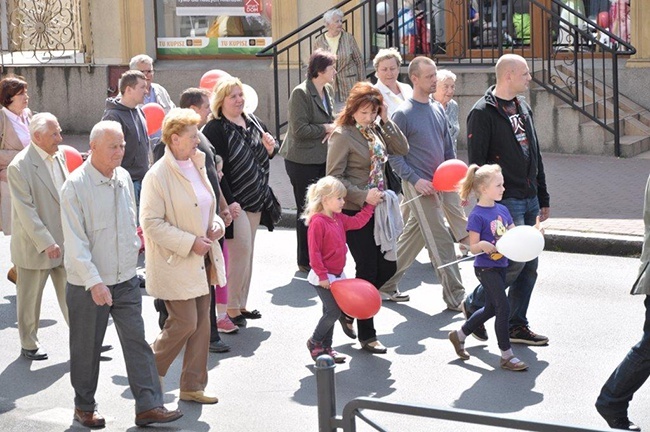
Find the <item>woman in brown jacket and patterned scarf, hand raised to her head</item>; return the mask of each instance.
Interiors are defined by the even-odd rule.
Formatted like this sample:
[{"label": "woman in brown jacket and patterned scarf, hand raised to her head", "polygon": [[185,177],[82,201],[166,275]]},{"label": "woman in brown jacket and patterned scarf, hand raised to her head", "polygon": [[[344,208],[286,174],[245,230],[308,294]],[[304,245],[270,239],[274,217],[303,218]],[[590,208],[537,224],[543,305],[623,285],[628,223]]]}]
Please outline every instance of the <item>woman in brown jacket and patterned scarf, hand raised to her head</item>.
[{"label": "woman in brown jacket and patterned scarf, hand raised to her head", "polygon": [[[372,84],[357,83],[336,120],[329,139],[327,175],[337,177],[347,189],[343,213],[354,216],[367,204],[377,205],[387,190],[386,161],[389,154],[405,155],[408,142],[397,125],[388,118],[381,93]],[[379,191],[380,193],[376,193]],[[347,232],[347,242],[356,263],[356,277],[380,288],[396,271],[395,261],[386,259],[375,244],[374,217],[356,231]],[[353,319],[342,316],[341,324],[349,337],[355,337]],[[371,353],[386,352],[377,340],[372,318],[358,320],[359,342]]]}]

